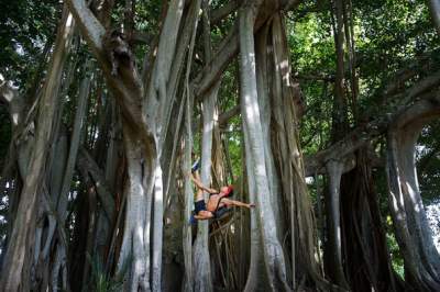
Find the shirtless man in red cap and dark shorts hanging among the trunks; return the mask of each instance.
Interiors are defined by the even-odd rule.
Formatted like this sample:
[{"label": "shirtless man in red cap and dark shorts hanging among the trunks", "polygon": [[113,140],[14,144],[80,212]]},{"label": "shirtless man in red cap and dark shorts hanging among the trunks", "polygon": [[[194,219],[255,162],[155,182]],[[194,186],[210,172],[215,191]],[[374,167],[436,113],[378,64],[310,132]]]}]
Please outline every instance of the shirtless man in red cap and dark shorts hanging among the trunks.
[{"label": "shirtless man in red cap and dark shorts hanging among the trunks", "polygon": [[[255,204],[253,203],[246,204],[240,201],[228,199],[227,196],[230,196],[233,193],[232,186],[221,187],[220,191],[207,188],[201,183],[197,171],[191,175],[191,180],[198,189],[196,202],[194,203],[196,213],[196,215],[194,215],[194,218],[196,220],[209,220],[219,217],[219,214],[222,213],[219,211],[222,211],[222,209],[226,209],[228,206],[244,206],[249,209],[255,206]],[[204,191],[209,193],[208,203],[205,203]],[[191,223],[195,223],[193,217]]]}]

